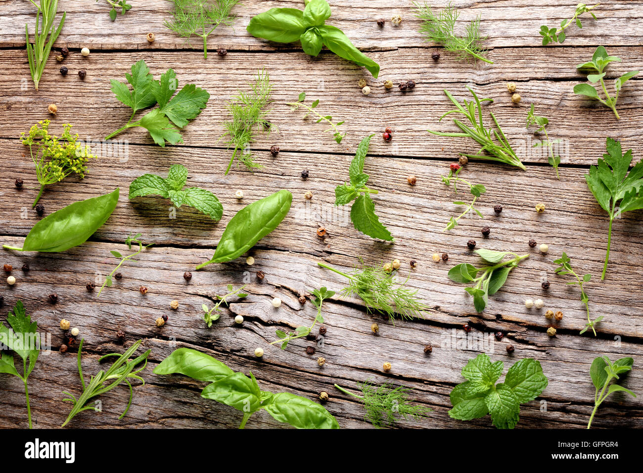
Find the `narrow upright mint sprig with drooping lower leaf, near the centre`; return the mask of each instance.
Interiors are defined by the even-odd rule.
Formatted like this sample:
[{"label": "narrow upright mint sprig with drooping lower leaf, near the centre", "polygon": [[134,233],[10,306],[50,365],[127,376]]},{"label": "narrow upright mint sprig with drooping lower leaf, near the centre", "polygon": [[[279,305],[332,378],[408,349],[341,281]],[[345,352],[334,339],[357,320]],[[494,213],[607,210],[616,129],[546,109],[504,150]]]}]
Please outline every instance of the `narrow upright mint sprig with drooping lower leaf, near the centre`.
[{"label": "narrow upright mint sprig with drooping lower leaf, near the centre", "polygon": [[350,219],[354,227],[365,235],[386,241],[393,241],[393,236],[379,221],[375,214],[375,203],[369,194],[377,194],[377,190],[366,187],[368,174],[364,174],[364,161],[368,153],[368,145],[372,134],[359,143],[355,157],[349,166],[349,183],[339,185],[335,189],[335,205],[347,205],[355,201],[350,207]]}]

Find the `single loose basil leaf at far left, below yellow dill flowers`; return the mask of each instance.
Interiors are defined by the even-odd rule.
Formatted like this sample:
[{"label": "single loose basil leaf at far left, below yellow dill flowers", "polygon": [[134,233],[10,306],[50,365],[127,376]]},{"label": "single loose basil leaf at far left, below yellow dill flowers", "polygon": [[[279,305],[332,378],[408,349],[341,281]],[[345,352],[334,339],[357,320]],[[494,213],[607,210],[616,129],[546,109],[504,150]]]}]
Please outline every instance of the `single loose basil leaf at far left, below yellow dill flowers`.
[{"label": "single loose basil leaf at far left, below yellow dill flowers", "polygon": [[118,188],[100,197],[75,202],[36,223],[20,251],[63,252],[82,245],[111,216]]}]

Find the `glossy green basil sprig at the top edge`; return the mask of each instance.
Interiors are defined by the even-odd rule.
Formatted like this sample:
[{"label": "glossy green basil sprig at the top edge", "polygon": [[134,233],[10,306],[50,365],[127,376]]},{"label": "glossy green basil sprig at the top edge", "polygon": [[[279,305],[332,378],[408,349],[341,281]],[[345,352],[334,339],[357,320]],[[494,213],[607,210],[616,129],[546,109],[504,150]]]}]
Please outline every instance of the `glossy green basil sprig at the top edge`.
[{"label": "glossy green basil sprig at the top edge", "polygon": [[325,24],[331,17],[331,6],[326,0],[310,0],[305,8],[271,8],[253,17],[248,33],[257,38],[275,42],[302,43],[303,52],[316,56],[325,44],[343,59],[364,66],[377,79],[379,64],[356,48],[340,28]]}]

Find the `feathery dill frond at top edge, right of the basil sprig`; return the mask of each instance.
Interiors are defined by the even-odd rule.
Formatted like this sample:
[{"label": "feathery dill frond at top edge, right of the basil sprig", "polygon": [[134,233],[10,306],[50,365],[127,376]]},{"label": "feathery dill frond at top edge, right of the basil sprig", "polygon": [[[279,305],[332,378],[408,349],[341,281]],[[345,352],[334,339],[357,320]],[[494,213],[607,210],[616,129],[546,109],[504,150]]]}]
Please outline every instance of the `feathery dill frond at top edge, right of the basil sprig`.
[{"label": "feathery dill frond at top edge, right of the basil sprig", "polygon": [[455,22],[460,12],[450,3],[437,15],[433,14],[433,10],[426,2],[424,5],[414,2],[413,6],[415,6],[413,9],[416,12],[415,17],[422,20],[420,32],[426,37],[426,41],[442,44],[447,51],[457,53],[458,59],[471,56],[493,64],[491,60],[482,57],[487,52],[482,46],[482,41],[487,37],[480,36],[480,16],[467,24],[464,36],[458,36],[455,34]]}]

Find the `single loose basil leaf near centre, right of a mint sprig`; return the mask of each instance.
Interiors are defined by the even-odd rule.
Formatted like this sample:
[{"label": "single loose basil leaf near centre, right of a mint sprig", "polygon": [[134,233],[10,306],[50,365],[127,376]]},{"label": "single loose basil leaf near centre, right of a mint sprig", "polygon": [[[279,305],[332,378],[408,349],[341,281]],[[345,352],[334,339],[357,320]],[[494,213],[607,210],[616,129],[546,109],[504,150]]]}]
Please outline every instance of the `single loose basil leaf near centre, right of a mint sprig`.
[{"label": "single loose basil leaf near centre, right of a mint sprig", "polygon": [[257,241],[275,230],[290,210],[291,203],[293,194],[279,190],[239,210],[226,226],[212,259],[199,264],[197,269],[210,263],[232,261],[247,252]]}]

